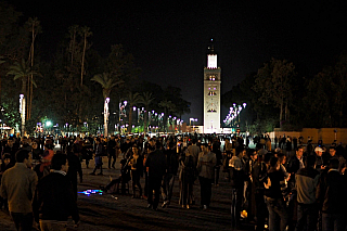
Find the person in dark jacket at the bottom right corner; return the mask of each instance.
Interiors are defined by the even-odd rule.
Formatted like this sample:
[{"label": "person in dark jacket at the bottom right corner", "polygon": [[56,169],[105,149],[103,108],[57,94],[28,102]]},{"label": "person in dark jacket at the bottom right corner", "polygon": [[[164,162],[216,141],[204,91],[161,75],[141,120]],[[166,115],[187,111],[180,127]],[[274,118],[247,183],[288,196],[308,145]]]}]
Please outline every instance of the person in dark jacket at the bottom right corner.
[{"label": "person in dark jacket at the bottom right corner", "polygon": [[338,171],[339,162],[331,158],[329,171],[317,188],[317,201],[322,211],[323,231],[344,231],[346,227],[347,182]]}]

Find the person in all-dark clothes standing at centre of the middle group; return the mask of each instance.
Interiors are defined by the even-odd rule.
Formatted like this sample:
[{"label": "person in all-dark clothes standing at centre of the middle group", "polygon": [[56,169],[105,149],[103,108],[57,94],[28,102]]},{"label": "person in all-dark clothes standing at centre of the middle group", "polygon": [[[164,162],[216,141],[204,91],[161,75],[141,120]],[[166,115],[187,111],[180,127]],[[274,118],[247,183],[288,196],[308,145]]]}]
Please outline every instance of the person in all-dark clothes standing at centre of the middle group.
[{"label": "person in all-dark clothes standing at centre of the middle group", "polygon": [[[156,150],[149,154],[145,161],[145,167],[149,172],[149,197],[147,202],[149,208],[153,208],[157,210],[157,206],[159,203],[159,194],[160,194],[160,185],[163,176],[166,172],[166,156],[163,153],[163,146],[160,142],[155,143]],[[153,201],[153,190],[155,192],[154,201]]]}]

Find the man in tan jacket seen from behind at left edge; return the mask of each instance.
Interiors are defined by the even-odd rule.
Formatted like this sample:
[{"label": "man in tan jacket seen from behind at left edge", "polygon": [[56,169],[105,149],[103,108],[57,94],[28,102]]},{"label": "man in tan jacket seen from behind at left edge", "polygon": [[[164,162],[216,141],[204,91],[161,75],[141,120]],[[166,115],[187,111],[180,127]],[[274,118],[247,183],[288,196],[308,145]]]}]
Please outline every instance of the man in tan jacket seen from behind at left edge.
[{"label": "man in tan jacket seen from behind at left edge", "polygon": [[16,230],[31,230],[33,207],[31,201],[38,177],[31,167],[31,154],[26,150],[15,153],[16,164],[3,172],[0,187],[0,196],[8,200],[9,211]]}]

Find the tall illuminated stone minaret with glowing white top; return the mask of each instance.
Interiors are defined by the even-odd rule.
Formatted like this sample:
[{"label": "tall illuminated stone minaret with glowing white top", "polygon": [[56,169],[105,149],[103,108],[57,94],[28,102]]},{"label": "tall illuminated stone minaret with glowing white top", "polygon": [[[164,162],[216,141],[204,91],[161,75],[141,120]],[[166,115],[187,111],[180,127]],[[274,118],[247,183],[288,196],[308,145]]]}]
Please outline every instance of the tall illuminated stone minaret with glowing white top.
[{"label": "tall illuminated stone minaret with glowing white top", "polygon": [[220,133],[221,69],[217,66],[214,44],[208,49],[207,67],[204,67],[204,133]]}]

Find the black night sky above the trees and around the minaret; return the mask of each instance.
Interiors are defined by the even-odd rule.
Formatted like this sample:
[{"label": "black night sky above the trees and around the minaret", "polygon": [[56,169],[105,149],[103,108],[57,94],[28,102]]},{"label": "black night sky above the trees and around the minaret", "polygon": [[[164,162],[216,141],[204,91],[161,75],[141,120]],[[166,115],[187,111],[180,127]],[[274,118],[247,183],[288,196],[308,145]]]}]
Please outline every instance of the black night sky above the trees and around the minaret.
[{"label": "black night sky above the trees and around the minaret", "polygon": [[[182,89],[189,117],[203,120],[203,70],[214,38],[222,92],[271,57],[314,75],[347,49],[347,1],[20,1],[23,21],[37,16],[37,42],[54,52],[74,24],[88,26],[103,56],[123,43],[141,79]],[[149,3],[147,3],[149,2]],[[222,113],[222,118],[227,112]]]}]

